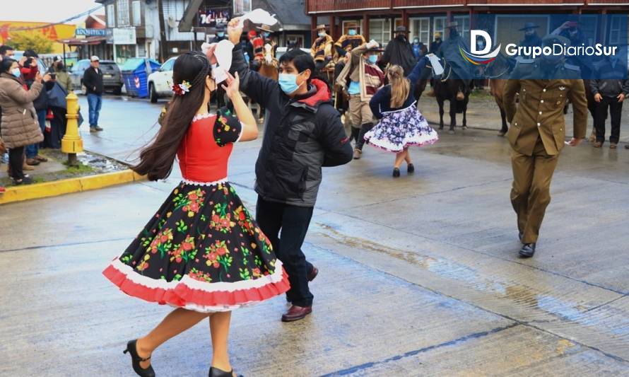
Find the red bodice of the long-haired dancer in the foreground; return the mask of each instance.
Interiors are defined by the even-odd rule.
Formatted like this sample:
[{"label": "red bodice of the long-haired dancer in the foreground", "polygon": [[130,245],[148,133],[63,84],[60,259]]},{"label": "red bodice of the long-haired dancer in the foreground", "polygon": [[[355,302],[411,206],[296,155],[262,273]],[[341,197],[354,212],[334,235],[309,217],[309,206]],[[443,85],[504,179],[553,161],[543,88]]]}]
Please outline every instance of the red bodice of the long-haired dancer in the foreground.
[{"label": "red bodice of the long-haired dancer in the foreground", "polygon": [[[233,143],[219,146],[215,134],[217,115],[197,115],[182,141],[177,158],[184,180],[216,182],[227,178]],[[223,131],[224,132],[224,131]]]}]

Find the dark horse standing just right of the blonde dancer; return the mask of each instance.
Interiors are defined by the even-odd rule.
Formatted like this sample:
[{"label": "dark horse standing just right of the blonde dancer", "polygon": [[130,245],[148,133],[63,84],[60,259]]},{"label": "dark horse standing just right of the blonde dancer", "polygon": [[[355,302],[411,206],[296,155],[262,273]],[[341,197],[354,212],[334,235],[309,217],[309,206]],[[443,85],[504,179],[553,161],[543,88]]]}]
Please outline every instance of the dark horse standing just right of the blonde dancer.
[{"label": "dark horse standing just right of the blonde dancer", "polygon": [[[466,88],[463,100],[457,100],[459,88],[464,87],[462,79],[451,79],[454,71],[452,66],[444,59],[444,71],[442,79],[435,79],[435,98],[439,105],[439,129],[443,129],[443,105],[445,101],[450,103],[450,128],[448,133],[454,134],[454,127],[457,126],[457,112],[463,113],[463,129],[467,128],[467,103],[469,103],[469,93],[471,86]],[[472,84],[473,85],[473,84]]]}]

